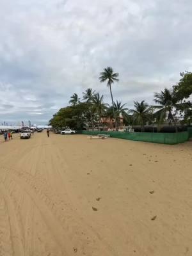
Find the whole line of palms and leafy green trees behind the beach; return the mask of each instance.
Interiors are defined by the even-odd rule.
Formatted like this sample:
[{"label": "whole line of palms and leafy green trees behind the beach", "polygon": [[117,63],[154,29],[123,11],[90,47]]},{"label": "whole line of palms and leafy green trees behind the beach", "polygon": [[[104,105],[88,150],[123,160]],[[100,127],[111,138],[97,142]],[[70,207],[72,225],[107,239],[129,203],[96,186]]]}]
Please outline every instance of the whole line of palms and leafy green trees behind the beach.
[{"label": "whole line of palms and leafy green trees behind the beach", "polygon": [[151,106],[142,100],[134,101],[134,108],[128,109],[120,100],[114,100],[112,85],[118,82],[119,74],[107,67],[100,72],[100,83],[106,83],[111,96],[111,104],[104,102],[104,96],[88,88],[82,97],[74,93],[69,100],[70,106],[61,108],[50,120],[54,128],[70,127],[74,129],[94,129],[104,127],[105,120],[111,120],[113,129],[118,130],[120,118],[124,125],[140,125],[144,131],[145,124],[192,124],[192,73],[180,73],[179,83],[171,88],[164,88],[154,93],[154,104]]}]

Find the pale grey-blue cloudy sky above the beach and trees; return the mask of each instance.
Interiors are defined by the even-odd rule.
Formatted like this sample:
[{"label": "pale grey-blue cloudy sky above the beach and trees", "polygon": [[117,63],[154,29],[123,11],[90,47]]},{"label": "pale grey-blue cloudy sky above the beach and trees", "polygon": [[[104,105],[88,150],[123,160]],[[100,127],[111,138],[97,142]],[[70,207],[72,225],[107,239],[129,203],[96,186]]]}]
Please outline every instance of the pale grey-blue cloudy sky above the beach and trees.
[{"label": "pale grey-blue cloudy sky above the beach and trees", "polygon": [[191,0],[0,0],[0,124],[47,124],[99,72],[120,74],[115,99],[132,108],[192,70]]}]

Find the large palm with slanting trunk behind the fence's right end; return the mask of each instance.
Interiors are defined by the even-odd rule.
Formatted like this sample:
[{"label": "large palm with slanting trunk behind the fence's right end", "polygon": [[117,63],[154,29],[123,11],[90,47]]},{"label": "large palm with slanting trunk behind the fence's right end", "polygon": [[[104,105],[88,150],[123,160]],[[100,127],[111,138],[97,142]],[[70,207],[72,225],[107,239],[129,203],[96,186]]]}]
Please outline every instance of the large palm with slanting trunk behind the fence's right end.
[{"label": "large palm with slanting trunk behind the fence's right end", "polygon": [[177,103],[175,92],[172,89],[164,88],[164,91],[161,91],[161,93],[154,93],[154,97],[154,102],[159,104],[159,106],[154,106],[154,108],[159,109],[156,113],[159,113],[160,116],[165,116],[168,113],[167,120],[173,122],[177,132],[177,124],[172,111],[173,108],[178,108],[181,104]]}]

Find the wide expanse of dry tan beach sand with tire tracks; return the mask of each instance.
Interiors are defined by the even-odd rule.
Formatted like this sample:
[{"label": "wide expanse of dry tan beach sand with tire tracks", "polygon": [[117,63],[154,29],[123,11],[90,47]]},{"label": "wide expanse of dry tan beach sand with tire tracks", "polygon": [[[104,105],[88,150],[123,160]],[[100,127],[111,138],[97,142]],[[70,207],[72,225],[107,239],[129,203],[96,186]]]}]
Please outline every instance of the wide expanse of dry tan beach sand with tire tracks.
[{"label": "wide expanse of dry tan beach sand with tire tracks", "polygon": [[192,255],[192,142],[43,132],[0,152],[1,256]]}]

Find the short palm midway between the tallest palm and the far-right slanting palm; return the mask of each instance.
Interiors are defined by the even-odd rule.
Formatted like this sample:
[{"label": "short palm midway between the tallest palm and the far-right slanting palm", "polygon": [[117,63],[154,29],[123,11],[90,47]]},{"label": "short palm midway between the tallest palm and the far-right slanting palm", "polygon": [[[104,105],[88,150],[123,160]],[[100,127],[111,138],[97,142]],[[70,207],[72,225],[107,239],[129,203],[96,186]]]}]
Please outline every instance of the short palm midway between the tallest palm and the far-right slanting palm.
[{"label": "short palm midway between the tallest palm and the far-right slanting palm", "polygon": [[129,112],[133,114],[134,121],[141,125],[141,131],[143,131],[150,113],[150,106],[145,103],[145,100],[141,102],[134,101],[134,109],[130,109]]}]

